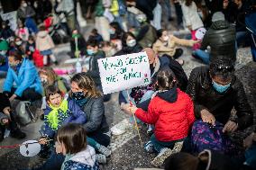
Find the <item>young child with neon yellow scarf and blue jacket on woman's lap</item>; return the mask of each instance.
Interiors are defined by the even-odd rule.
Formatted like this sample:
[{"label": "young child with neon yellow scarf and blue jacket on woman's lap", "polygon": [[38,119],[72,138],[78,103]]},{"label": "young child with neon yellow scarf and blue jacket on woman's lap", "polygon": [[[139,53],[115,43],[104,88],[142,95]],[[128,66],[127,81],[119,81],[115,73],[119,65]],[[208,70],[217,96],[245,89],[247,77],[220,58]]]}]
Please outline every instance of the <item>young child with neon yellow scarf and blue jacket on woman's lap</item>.
[{"label": "young child with neon yellow scarf and blue jacket on woman's lap", "polygon": [[[62,125],[74,122],[84,124],[87,121],[86,114],[73,100],[63,99],[61,92],[55,85],[49,85],[46,90],[47,106],[44,110],[44,128],[41,130],[41,144],[46,144],[48,139],[53,139]],[[104,155],[97,155],[99,162],[105,163],[105,157],[108,157],[111,152],[108,148],[98,144],[94,139],[87,139],[88,143]],[[105,156],[105,157],[104,157]]]}]

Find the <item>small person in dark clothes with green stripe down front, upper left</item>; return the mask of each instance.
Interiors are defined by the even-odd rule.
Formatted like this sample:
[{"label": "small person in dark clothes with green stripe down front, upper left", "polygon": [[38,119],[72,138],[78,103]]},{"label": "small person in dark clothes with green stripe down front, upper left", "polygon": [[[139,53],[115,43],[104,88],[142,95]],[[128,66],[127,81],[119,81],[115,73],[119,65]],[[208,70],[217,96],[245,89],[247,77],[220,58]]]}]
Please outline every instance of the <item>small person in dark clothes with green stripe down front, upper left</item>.
[{"label": "small person in dark clothes with green stripe down front, upper left", "polygon": [[[78,39],[78,44],[76,44],[76,39]],[[80,55],[86,55],[86,47],[87,42],[84,39],[83,35],[78,30],[73,30],[72,38],[70,40],[71,58],[78,58],[80,57]]]}]

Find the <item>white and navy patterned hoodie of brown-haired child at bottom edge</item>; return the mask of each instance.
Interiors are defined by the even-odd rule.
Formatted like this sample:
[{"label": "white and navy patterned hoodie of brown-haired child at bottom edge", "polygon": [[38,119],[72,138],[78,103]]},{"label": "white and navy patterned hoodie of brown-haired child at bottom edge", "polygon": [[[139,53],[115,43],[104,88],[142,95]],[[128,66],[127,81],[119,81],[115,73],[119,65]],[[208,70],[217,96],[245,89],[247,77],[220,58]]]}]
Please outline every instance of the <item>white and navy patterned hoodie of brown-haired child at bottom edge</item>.
[{"label": "white and navy patterned hoodie of brown-haired child at bottom edge", "polygon": [[61,166],[61,170],[98,170],[99,166],[96,162],[96,151],[91,146],[78,152],[75,155],[68,155]]}]

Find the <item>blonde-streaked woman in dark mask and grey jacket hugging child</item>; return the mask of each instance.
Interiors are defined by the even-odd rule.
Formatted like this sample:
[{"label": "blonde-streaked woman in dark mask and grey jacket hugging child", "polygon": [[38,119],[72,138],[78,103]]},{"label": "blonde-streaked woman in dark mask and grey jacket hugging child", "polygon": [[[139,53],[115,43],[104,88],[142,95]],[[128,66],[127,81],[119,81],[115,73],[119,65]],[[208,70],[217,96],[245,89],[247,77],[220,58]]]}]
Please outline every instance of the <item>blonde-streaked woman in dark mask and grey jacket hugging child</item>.
[{"label": "blonde-streaked woman in dark mask and grey jacket hugging child", "polygon": [[96,89],[93,79],[87,73],[78,73],[70,82],[70,98],[74,99],[87,114],[87,123],[84,124],[87,136],[107,147],[110,143],[110,133],[105,120],[102,94]]}]

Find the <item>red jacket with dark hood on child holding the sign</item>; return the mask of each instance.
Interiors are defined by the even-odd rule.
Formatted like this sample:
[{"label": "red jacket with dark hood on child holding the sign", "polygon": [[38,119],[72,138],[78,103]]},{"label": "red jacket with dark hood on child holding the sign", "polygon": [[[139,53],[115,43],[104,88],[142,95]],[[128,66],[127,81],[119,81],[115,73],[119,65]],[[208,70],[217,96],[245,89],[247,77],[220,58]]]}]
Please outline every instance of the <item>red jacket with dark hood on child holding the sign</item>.
[{"label": "red jacket with dark hood on child holding the sign", "polygon": [[154,134],[160,141],[186,138],[195,121],[192,100],[178,88],[158,93],[151,100],[148,112],[138,109],[135,115],[143,122],[155,125]]}]

